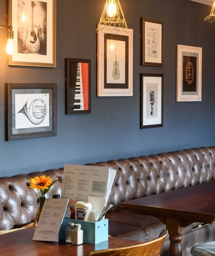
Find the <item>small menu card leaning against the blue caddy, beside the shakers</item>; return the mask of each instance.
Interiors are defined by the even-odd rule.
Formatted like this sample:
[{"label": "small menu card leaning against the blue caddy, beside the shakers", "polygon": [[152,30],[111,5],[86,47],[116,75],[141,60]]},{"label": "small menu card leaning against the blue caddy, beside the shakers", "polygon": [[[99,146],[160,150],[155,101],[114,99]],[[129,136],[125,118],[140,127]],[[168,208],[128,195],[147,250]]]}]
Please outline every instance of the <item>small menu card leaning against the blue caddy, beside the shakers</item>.
[{"label": "small menu card leaning against the blue caddy, beside the shakers", "polygon": [[32,240],[58,241],[68,199],[46,198]]}]

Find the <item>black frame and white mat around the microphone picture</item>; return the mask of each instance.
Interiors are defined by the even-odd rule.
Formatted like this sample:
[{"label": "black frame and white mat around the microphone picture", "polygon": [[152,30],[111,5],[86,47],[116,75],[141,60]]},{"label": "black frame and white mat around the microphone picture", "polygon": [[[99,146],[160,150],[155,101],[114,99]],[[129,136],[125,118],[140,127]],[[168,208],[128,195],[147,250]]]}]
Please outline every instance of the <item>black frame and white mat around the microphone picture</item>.
[{"label": "black frame and white mat around the microphone picture", "polygon": [[[157,93],[155,92],[155,99],[156,99],[156,95],[158,97],[158,105],[157,105],[157,118],[150,118],[151,120],[157,120],[156,122],[153,121],[148,121],[148,123],[145,123],[145,120],[147,116],[147,110],[149,111],[149,108],[151,109],[151,105],[150,106],[146,106],[147,103],[150,103],[150,98],[149,100],[146,99],[146,95],[144,93],[144,90],[146,90],[146,87],[144,87],[144,78],[146,79],[146,77],[149,78],[155,78],[156,77],[160,77],[161,81],[160,84],[158,84],[157,87]],[[148,81],[150,83],[157,83],[159,81]],[[159,88],[160,86],[160,88]],[[149,95],[148,95],[149,96]],[[156,100],[155,100],[156,102]],[[145,107],[143,106],[145,104]],[[152,104],[153,105],[153,104]],[[154,107],[155,105],[153,105],[152,107]],[[160,109],[158,109],[160,107]],[[140,74],[140,129],[145,129],[145,128],[153,128],[153,127],[162,127],[163,126],[163,74]]]}]

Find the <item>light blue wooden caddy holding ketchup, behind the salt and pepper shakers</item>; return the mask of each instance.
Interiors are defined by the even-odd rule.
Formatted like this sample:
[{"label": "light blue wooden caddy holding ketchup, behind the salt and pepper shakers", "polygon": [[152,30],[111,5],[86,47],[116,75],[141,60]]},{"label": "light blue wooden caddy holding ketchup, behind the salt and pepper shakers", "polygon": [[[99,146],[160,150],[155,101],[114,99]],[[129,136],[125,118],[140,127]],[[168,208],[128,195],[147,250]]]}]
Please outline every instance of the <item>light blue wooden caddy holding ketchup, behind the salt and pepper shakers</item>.
[{"label": "light blue wooden caddy holding ketchup, behind the salt and pepper shakers", "polygon": [[108,219],[100,220],[97,222],[91,222],[85,220],[66,218],[64,218],[62,221],[59,230],[59,239],[65,240],[65,229],[67,228],[68,222],[81,224],[81,229],[83,230],[84,243],[96,244],[108,240]]}]

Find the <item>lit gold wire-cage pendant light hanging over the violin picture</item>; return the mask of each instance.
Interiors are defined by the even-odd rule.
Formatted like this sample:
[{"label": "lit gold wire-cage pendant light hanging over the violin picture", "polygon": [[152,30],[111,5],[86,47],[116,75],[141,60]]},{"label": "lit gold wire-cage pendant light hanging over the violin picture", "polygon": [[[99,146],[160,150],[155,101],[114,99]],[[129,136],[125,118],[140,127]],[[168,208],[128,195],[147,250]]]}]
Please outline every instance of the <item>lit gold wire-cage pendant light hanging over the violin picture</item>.
[{"label": "lit gold wire-cage pendant light hanging over the violin picture", "polygon": [[[110,28],[109,26],[111,25],[113,27]],[[124,32],[127,33],[127,24],[124,19],[119,0],[106,0],[104,10],[101,14],[100,21],[96,28],[96,32],[99,33],[99,31],[104,28],[110,32],[112,32],[113,28],[115,28],[117,31],[116,33],[118,33],[120,29],[123,29]],[[116,33],[114,32],[113,34]]]}]

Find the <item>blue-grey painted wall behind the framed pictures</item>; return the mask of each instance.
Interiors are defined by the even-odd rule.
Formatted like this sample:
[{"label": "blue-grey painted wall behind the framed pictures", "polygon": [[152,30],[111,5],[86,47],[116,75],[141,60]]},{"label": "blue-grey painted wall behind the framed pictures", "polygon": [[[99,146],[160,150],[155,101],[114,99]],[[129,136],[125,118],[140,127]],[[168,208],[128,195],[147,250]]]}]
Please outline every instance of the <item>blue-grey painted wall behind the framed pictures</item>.
[{"label": "blue-grey painted wall behind the framed pictures", "polygon": [[[214,146],[215,22],[210,7],[186,0],[120,0],[133,29],[133,96],[96,97],[96,24],[105,0],[57,0],[56,68],[8,66],[0,29],[0,176]],[[7,24],[0,0],[0,24]],[[164,22],[164,66],[140,65],[140,18]],[[176,102],[176,45],[202,47],[202,101]],[[91,114],[65,115],[64,58],[91,60]],[[139,74],[164,74],[163,127],[139,129]],[[57,83],[57,136],[4,141],[6,82]]]}]

